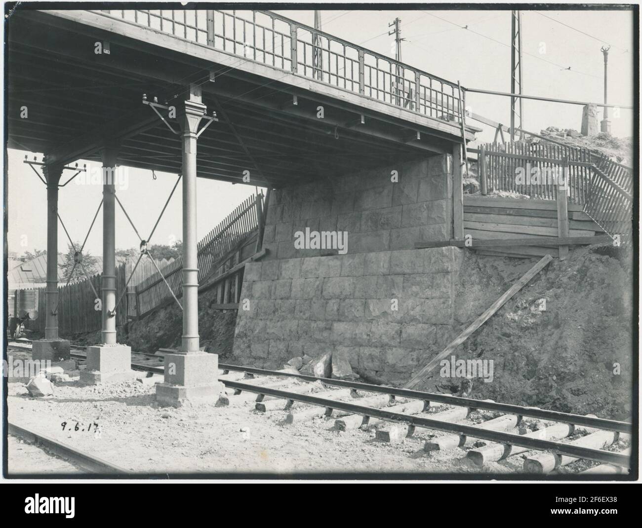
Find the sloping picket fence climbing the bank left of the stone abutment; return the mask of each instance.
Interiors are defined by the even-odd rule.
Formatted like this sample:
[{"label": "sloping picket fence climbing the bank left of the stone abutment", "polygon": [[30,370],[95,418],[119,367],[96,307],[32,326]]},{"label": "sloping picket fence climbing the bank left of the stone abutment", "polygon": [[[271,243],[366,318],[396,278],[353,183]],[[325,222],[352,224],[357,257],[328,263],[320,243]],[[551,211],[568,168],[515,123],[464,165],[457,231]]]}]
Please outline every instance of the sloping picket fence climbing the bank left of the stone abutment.
[{"label": "sloping picket fence climbing the bank left of the stone abutment", "polygon": [[[250,196],[198,243],[199,284],[220,270],[221,260],[229,259],[230,251],[245,243],[248,238],[256,237],[262,218],[263,194]],[[143,317],[172,299],[168,284],[171,291],[177,297],[180,296],[182,268],[183,260],[178,258],[160,269],[162,276],[157,272],[135,287],[137,317]]]}]

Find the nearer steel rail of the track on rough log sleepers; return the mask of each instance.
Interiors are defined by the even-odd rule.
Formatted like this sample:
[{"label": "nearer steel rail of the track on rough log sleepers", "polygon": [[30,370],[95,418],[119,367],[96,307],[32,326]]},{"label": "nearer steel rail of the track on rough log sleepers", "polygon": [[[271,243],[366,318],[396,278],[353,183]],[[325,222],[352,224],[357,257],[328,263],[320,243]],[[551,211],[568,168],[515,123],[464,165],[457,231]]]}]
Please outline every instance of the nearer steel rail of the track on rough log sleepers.
[{"label": "nearer steel rail of the track on rough log sleepers", "polygon": [[[255,387],[241,382],[225,382],[226,385],[231,386],[241,391],[249,391],[254,393],[261,393],[270,396],[281,396],[288,400],[295,402],[303,402],[311,405],[320,405],[322,407],[330,407],[338,411],[347,411],[349,413],[367,414],[375,418],[383,420],[390,420],[391,422],[408,422],[415,427],[424,427],[426,429],[435,429],[445,432],[456,432],[464,434],[465,436],[472,436],[482,440],[489,440],[492,442],[508,443],[520,447],[528,447],[535,450],[549,450],[555,454],[562,456],[583,458],[587,460],[594,460],[607,464],[615,464],[617,466],[627,466],[629,464],[629,457],[622,456],[618,453],[610,451],[603,451],[600,449],[587,448],[578,445],[563,444],[551,440],[541,440],[537,438],[526,438],[524,435],[512,434],[507,432],[498,432],[494,430],[484,430],[480,427],[473,425],[464,425],[461,423],[448,423],[441,422],[440,420],[432,420],[422,416],[413,416],[412,414],[391,413],[386,409],[374,409],[372,407],[365,407],[363,405],[356,405],[350,402],[340,402],[327,400],[326,398],[318,398],[313,395],[296,394],[288,391],[280,391],[277,389],[269,389],[266,387]],[[423,398],[422,398],[423,399]]]}]

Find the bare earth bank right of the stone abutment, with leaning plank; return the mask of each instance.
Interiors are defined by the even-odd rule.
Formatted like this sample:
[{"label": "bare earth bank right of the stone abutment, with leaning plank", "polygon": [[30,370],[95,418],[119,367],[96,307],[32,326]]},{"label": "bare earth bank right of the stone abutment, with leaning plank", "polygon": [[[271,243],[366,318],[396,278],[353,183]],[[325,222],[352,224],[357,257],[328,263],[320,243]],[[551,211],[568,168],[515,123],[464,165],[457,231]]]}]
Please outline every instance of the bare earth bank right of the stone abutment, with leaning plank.
[{"label": "bare earth bank right of the stone abutment, with leaning plank", "polygon": [[[534,262],[467,251],[456,285],[455,333]],[[630,269],[628,255],[621,262],[587,248],[551,262],[456,350],[457,359],[494,362],[492,381],[475,379],[471,397],[630,416],[636,324]],[[435,378],[443,384],[437,371]]]}]

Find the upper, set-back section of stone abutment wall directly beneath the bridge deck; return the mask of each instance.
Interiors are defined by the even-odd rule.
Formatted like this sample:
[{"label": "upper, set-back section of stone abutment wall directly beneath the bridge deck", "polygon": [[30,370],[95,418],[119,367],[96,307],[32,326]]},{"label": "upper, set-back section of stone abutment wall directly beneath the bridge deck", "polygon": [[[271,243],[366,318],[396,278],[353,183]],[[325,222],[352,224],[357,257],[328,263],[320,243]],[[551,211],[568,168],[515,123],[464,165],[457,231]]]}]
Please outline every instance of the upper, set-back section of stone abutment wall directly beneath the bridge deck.
[{"label": "upper, set-back section of stone abutment wall directly beneath the bridge deck", "polygon": [[[391,181],[397,171],[399,181]],[[296,250],[294,234],[347,232],[348,253],[409,250],[421,240],[452,235],[452,157],[435,155],[412,162],[327,178],[270,196],[263,246],[268,259],[336,254]]]}]

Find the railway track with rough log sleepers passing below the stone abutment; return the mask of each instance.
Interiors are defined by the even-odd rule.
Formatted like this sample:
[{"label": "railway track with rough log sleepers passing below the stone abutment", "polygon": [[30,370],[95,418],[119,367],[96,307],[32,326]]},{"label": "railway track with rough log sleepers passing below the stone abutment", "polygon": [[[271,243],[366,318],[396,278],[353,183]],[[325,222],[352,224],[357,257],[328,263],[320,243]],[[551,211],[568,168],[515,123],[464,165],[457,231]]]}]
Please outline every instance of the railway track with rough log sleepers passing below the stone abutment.
[{"label": "railway track with rough log sleepers passing below the stone abutment", "polygon": [[[24,340],[19,346],[30,348]],[[82,361],[84,348],[73,346],[73,350],[72,357]],[[132,360],[135,370],[163,373],[162,356],[132,352]],[[629,450],[612,450],[618,440],[630,440],[629,422],[318,378],[294,370],[223,363],[219,369],[230,405],[246,405],[262,414],[282,411],[286,413],[285,423],[311,423],[323,418],[325,423],[334,420],[338,430],[377,427],[376,438],[391,444],[416,438],[421,432],[438,431],[444,434],[427,439],[426,452],[455,449],[482,469],[520,454],[526,473],[553,473],[578,460],[599,463],[581,473],[627,473],[630,467]],[[467,423],[476,411],[489,411],[487,414],[494,417]],[[580,430],[586,434],[579,436]],[[485,441],[485,445],[464,452],[473,439]]]}]

